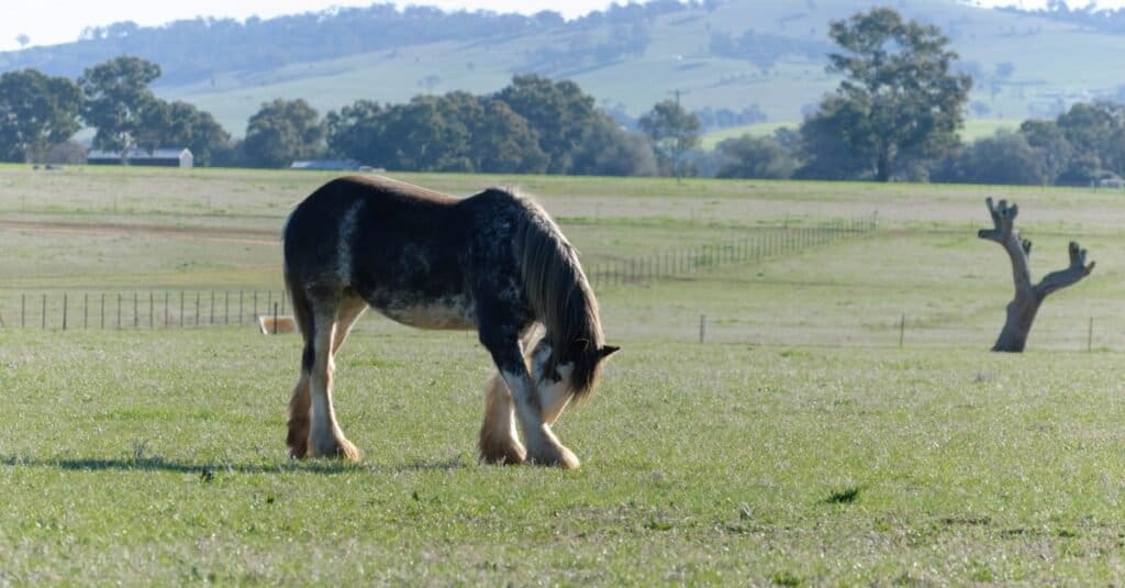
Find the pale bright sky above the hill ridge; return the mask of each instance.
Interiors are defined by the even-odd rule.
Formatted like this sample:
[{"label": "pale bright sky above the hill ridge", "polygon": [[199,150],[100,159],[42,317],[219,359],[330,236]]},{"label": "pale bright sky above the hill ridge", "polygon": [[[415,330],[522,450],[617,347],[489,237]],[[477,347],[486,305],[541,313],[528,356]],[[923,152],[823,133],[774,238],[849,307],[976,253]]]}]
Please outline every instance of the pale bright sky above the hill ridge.
[{"label": "pale bright sky above the hill ridge", "polygon": [[[228,17],[243,20],[251,16],[270,18],[295,12],[321,11],[333,6],[370,6],[376,0],[191,0],[176,2],[168,0],[38,0],[7,10],[0,19],[0,51],[20,47],[18,37],[26,36],[28,45],[54,45],[78,39],[86,27],[105,26],[123,20],[133,20],[142,26],[156,26],[172,20],[197,16]],[[381,3],[384,0],[378,0]],[[624,3],[626,0],[619,0]],[[765,0],[763,0],[765,1]],[[791,1],[791,0],[771,0]],[[395,0],[403,7],[407,3],[435,6],[444,10],[494,10],[497,12],[533,14],[555,10],[568,18],[601,10],[611,0]],[[981,6],[1007,6],[1020,3],[1032,8],[1045,0],[980,0]],[[1070,0],[1074,7],[1086,6],[1088,0]],[[1102,8],[1123,8],[1125,0],[1098,0]]]}]

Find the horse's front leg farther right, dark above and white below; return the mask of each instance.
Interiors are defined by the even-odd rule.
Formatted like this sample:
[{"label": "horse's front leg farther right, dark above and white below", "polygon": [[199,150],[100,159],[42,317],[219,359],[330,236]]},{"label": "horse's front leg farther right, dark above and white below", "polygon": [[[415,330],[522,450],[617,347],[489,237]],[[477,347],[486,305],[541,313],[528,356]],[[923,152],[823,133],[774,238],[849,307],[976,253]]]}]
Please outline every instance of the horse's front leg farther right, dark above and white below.
[{"label": "horse's front leg farther right, dark above and white below", "polygon": [[528,446],[528,460],[541,465],[557,465],[567,470],[576,470],[582,462],[574,452],[559,443],[551,426],[543,421],[542,409],[539,406],[539,394],[536,384],[528,373],[528,366],[520,353],[519,338],[511,337],[501,340],[492,339],[484,333],[482,340],[493,355],[501,377],[507,384],[515,403],[515,416],[523,429],[523,438]]}]

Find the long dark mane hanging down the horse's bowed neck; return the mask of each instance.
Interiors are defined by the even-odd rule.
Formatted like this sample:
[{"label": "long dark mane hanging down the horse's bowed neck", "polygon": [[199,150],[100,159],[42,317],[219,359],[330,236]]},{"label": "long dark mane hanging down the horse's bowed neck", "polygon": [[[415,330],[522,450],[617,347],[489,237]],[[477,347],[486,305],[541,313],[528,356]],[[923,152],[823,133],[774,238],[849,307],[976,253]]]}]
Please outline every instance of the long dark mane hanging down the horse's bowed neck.
[{"label": "long dark mane hanging down the horse's bowed neck", "polygon": [[596,354],[604,344],[597,300],[578,262],[578,252],[555,221],[534,202],[521,198],[524,214],[515,230],[515,255],[523,287],[546,327],[551,346],[546,373],[554,373],[561,359],[574,362],[570,382],[577,398],[593,392],[597,383]]}]

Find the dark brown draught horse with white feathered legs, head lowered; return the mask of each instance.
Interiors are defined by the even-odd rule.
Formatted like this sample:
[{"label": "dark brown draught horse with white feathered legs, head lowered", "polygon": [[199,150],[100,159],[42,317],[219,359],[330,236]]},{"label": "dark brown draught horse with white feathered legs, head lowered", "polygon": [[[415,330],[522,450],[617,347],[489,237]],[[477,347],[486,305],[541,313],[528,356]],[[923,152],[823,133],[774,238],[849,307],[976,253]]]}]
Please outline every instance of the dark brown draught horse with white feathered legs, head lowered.
[{"label": "dark brown draught horse with white feathered legs, head lowered", "polygon": [[[579,465],[551,425],[593,391],[616,347],[604,344],[577,252],[538,204],[496,188],[457,199],[341,178],[297,205],[282,238],[305,341],[289,401],[294,457],[360,458],[332,408],[333,356],[372,306],[413,327],[477,330],[498,369],[486,386],[483,461]],[[543,335],[531,346],[537,326]]]}]

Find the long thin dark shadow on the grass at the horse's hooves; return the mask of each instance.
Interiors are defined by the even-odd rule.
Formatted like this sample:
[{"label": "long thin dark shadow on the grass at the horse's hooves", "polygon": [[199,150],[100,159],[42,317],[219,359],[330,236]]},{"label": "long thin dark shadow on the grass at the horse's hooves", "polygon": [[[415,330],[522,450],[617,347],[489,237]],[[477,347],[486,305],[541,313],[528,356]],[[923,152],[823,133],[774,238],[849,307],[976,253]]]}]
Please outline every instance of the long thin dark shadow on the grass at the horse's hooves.
[{"label": "long thin dark shadow on the grass at the horse's hooves", "polygon": [[348,472],[363,471],[372,473],[410,473],[429,471],[457,471],[472,465],[465,462],[460,456],[449,460],[415,461],[397,465],[370,464],[370,463],[345,463],[340,461],[297,461],[289,460],[274,463],[231,463],[226,461],[212,462],[186,462],[166,460],[164,457],[138,457],[138,458],[51,458],[37,457],[0,456],[0,466],[28,466],[28,467],[53,467],[70,472],[171,472],[183,474],[199,474],[202,478],[213,478],[216,473],[243,473],[243,474],[281,474],[292,472],[310,472],[320,474],[341,474]]}]

